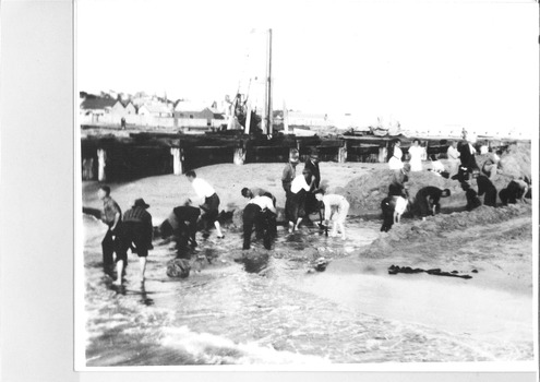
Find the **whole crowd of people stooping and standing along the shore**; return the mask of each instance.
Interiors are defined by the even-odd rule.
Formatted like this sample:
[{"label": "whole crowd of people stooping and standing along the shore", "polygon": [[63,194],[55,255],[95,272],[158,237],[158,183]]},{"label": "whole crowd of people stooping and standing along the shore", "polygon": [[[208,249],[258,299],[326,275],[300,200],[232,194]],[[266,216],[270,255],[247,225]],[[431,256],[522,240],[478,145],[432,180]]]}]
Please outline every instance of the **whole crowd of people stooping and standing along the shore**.
[{"label": "whole crowd of people stooping and standing along the shore", "polygon": [[[387,231],[394,223],[399,222],[400,215],[406,211],[409,203],[408,192],[405,183],[410,171],[422,170],[423,148],[419,140],[413,140],[409,147],[410,160],[404,163],[400,141],[394,140],[388,155],[388,167],[394,171],[392,182],[388,187],[388,196],[382,201],[383,226],[381,230]],[[478,195],[484,195],[483,204],[495,206],[496,189],[492,180],[496,177],[500,153],[490,156],[479,170],[475,160],[476,150],[470,141],[457,146],[457,142],[451,142],[447,156],[448,171],[436,159],[431,157],[431,170],[445,178],[458,180],[466,191],[467,210],[472,210],[481,202]],[[300,163],[300,154],[297,150],[291,150],[289,160],[286,164],[281,184],[285,191],[285,219],[286,229],[289,234],[299,229],[303,220],[312,214],[319,214],[319,226],[328,229],[332,224],[329,236],[336,237],[340,234],[341,239],[346,239],[345,220],[349,211],[349,202],[343,195],[325,194],[321,188],[321,171],[319,168],[319,154],[312,151],[304,163],[301,174],[297,175],[297,165]],[[472,174],[478,174],[472,176]],[[195,171],[188,171],[185,177],[191,182],[193,191],[200,199],[199,206],[192,200],[188,200],[184,205],[173,208],[170,217],[159,227],[163,235],[171,235],[177,239],[178,253],[184,255],[190,248],[197,246],[196,231],[201,228],[202,236],[207,238],[211,228],[215,228],[217,238],[223,239],[224,234],[219,224],[219,196],[214,188],[204,179],[197,178]],[[470,184],[471,178],[476,179],[478,192]],[[524,200],[529,184],[524,179],[515,179],[499,193],[503,204],[515,203]],[[243,188],[242,196],[248,199],[248,203],[242,212],[243,223],[243,246],[248,250],[251,247],[251,237],[254,231],[259,239],[263,239],[266,249],[272,248],[272,241],[277,235],[276,219],[276,198],[268,191],[259,188]],[[420,189],[415,198],[417,211],[422,219],[429,215],[434,215],[440,208],[441,198],[449,196],[448,189],[441,190],[437,187],[428,186]],[[146,211],[149,205],[143,199],[137,199],[133,206],[122,215],[121,208],[110,196],[110,188],[101,186],[98,190],[98,198],[103,201],[104,207],[101,219],[108,225],[107,234],[103,240],[103,255],[105,272],[112,276],[116,267],[117,277],[115,283],[121,285],[128,265],[127,252],[131,249],[140,259],[140,276],[144,282],[146,268],[146,258],[152,249],[153,225],[152,216]],[[324,214],[323,214],[324,211]],[[323,218],[324,216],[324,218]],[[116,254],[116,259],[115,255]],[[188,253],[189,258],[190,254]],[[116,266],[115,266],[116,263]]]}]

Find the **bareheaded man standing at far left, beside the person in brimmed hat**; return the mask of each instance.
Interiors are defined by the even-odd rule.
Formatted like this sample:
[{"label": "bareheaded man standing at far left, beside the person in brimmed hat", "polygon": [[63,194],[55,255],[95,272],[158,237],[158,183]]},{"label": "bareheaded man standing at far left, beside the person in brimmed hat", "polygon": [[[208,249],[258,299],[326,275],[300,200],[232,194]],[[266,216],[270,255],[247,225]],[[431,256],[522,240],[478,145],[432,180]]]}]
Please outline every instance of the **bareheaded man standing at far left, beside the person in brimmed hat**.
[{"label": "bareheaded man standing at far left, beside the person in brimmed hat", "polygon": [[[118,206],[118,203],[110,198],[110,187],[101,186],[97,191],[97,198],[104,202],[101,220],[109,227],[101,241],[104,271],[106,274],[111,275],[115,263],[113,254],[116,252],[118,256],[120,251],[122,211]],[[121,274],[118,277],[121,277]]]}]

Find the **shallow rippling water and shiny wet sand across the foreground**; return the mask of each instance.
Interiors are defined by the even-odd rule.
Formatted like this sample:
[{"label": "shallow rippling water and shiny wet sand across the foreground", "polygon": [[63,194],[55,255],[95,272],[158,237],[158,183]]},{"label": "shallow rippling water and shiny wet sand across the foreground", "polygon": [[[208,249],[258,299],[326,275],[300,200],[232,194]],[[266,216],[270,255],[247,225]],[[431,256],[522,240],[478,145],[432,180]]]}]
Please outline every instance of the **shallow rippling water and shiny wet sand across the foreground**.
[{"label": "shallow rippling water and shiny wet sand across the foreground", "polygon": [[[262,242],[242,251],[240,232],[231,230],[200,243],[194,259],[211,261],[188,278],[166,275],[176,252],[164,244],[151,253],[144,284],[128,267],[125,285],[115,289],[100,270],[98,227],[85,220],[87,365],[531,359],[530,325],[517,315],[527,313],[527,299],[508,297],[514,315],[493,320],[501,310],[481,310],[502,295],[471,297],[476,289],[464,284],[471,280],[388,275],[388,264],[353,255],[379,228],[379,222],[351,219],[345,241],[310,227],[279,231],[271,251]],[[310,274],[320,258],[332,262]],[[475,308],[481,298],[485,303]],[[482,320],[502,341],[472,333]]]}]

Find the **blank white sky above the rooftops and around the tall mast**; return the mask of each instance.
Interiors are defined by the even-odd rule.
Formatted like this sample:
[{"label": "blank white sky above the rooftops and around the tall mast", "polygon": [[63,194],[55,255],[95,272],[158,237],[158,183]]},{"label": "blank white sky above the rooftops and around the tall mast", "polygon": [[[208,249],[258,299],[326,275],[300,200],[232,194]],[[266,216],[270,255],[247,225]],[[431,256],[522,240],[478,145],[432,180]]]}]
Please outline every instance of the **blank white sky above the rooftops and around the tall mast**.
[{"label": "blank white sky above the rooftops and around the tall mast", "polygon": [[[76,9],[77,89],[255,102],[273,29],[274,108],[405,128],[538,130],[538,4],[96,1]],[[257,81],[255,81],[255,76]]]}]

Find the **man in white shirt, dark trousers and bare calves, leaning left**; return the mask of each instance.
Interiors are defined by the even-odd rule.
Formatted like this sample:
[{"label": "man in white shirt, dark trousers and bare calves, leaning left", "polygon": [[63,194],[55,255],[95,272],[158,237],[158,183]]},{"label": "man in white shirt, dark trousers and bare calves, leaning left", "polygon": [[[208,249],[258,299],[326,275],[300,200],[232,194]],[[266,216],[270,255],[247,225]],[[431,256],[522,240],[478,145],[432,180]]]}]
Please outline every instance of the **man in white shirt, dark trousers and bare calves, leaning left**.
[{"label": "man in white shirt, dark trousers and bare calves, leaning left", "polygon": [[200,199],[200,207],[204,212],[201,216],[204,223],[203,237],[207,238],[209,236],[209,226],[214,223],[218,239],[223,239],[221,226],[217,220],[219,214],[219,196],[206,180],[196,177],[195,171],[185,172],[185,177],[191,182],[193,191],[195,191],[195,194]]}]

